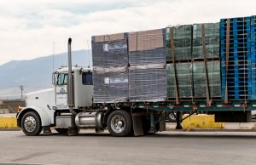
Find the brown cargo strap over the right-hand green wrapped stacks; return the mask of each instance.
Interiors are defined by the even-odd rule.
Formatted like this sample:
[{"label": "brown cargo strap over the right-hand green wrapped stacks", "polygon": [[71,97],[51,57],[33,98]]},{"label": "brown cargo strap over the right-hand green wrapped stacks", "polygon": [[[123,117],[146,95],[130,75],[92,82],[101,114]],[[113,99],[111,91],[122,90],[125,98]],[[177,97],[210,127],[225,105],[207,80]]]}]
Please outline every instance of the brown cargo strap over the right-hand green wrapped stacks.
[{"label": "brown cargo strap over the right-hand green wrapped stacks", "polygon": [[207,70],[207,54],[206,54],[206,28],[205,24],[201,25],[201,43],[202,43],[202,54],[204,57],[205,63],[205,73],[206,73],[206,93],[207,93],[207,104],[211,105],[211,96],[210,96],[210,88],[209,88],[209,79],[208,79],[208,70]]}]

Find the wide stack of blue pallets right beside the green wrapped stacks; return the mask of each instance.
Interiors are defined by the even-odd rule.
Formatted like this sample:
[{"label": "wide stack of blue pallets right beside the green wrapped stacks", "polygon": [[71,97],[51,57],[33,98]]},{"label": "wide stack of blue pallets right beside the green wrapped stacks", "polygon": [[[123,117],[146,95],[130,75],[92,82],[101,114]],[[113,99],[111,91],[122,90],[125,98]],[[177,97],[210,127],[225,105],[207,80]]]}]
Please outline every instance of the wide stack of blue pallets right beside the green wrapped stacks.
[{"label": "wide stack of blue pallets right beside the green wrapped stacks", "polygon": [[230,19],[229,59],[226,60],[227,19],[220,20],[222,97],[226,83],[231,100],[252,100],[250,17]]}]

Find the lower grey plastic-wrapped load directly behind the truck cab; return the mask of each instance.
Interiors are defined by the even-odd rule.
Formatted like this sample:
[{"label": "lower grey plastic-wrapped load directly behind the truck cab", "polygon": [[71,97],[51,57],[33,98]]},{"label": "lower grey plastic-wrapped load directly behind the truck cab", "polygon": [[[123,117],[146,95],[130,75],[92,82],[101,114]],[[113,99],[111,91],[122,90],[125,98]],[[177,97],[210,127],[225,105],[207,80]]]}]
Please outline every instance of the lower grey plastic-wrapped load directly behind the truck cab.
[{"label": "lower grey plastic-wrapped load directly behind the truck cab", "polygon": [[94,71],[93,81],[95,103],[126,102],[128,100],[128,71],[102,74],[96,74]]}]

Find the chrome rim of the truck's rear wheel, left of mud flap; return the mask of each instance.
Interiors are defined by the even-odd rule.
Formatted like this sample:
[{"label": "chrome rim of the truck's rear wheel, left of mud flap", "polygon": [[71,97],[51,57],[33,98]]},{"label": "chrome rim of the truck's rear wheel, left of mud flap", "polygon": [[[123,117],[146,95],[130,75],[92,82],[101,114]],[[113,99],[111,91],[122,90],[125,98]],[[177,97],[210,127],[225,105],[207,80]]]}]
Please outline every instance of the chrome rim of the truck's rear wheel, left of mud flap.
[{"label": "chrome rim of the truck's rear wheel, left of mud flap", "polygon": [[121,133],[125,130],[125,118],[120,115],[115,115],[112,117],[110,125],[115,133]]}]

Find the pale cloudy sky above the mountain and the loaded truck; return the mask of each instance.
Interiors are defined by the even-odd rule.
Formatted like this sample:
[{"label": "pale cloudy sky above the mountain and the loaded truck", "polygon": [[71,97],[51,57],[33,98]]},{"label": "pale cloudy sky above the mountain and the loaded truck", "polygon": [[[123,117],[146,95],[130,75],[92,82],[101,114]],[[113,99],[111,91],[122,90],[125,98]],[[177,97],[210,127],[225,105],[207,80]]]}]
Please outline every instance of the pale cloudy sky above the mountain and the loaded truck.
[{"label": "pale cloudy sky above the mountain and the loaded truck", "polygon": [[[256,14],[255,0],[0,1],[0,65],[90,48],[91,36]],[[55,46],[54,46],[55,45]]]}]

